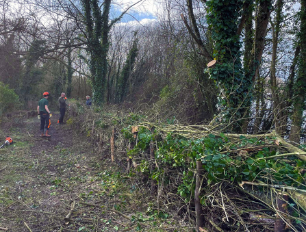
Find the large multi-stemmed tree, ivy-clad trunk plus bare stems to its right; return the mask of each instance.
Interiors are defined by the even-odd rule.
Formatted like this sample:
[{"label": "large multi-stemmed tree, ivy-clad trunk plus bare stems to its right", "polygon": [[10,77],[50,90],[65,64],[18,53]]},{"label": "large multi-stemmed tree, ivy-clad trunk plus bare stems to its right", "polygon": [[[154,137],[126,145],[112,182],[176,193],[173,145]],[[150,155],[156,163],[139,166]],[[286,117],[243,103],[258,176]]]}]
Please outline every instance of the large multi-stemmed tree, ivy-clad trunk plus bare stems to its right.
[{"label": "large multi-stemmed tree, ivy-clad trunk plus bare stems to its right", "polygon": [[[212,79],[222,92],[219,106],[224,110],[224,119],[234,132],[246,132],[248,114],[253,99],[253,85],[258,75],[259,64],[264,50],[264,38],[270,16],[271,0],[256,1],[258,14],[255,20],[255,38],[249,64],[241,62],[240,32],[242,25],[251,17],[253,1],[207,1],[207,23],[214,40],[214,60],[216,66],[209,69]],[[244,14],[240,12],[244,8]],[[251,24],[249,24],[251,25]],[[247,31],[249,32],[249,31]],[[248,35],[247,38],[251,39]],[[249,42],[249,41],[246,41]],[[246,51],[247,53],[248,51]]]}]

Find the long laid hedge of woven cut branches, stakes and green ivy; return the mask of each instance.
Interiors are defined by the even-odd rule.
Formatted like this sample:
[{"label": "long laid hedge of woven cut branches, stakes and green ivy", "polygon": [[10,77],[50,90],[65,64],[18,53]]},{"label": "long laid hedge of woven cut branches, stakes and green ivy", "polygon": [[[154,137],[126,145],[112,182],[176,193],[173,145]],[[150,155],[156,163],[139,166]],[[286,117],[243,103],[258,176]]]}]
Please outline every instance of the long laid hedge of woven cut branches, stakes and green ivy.
[{"label": "long laid hedge of woven cut branches, stakes and green ivy", "polygon": [[306,231],[303,146],[275,132],[239,135],[132,113],[86,114],[78,116],[82,131],[146,182],[153,207],[193,220],[197,231]]}]

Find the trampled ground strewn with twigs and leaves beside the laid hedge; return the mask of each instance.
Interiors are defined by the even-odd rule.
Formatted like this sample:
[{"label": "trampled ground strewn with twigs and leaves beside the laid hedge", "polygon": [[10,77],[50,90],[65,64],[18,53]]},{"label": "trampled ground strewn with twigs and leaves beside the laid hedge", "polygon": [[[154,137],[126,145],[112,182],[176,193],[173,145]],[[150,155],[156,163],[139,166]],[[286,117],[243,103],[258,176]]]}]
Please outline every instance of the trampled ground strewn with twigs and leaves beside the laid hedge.
[{"label": "trampled ground strewn with twigs and leaves beside the laid hedge", "polygon": [[179,216],[155,210],[154,198],[123,168],[97,154],[90,138],[51,118],[0,129],[0,231],[193,231]]}]

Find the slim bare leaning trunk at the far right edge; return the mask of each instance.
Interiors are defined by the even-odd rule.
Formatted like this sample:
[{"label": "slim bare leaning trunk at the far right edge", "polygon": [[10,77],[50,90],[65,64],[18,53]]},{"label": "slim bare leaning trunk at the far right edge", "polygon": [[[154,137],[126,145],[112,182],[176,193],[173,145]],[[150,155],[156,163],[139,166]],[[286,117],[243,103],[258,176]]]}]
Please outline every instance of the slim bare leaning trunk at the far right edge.
[{"label": "slim bare leaning trunk at the far right edge", "polygon": [[301,47],[298,76],[294,84],[294,112],[292,115],[292,127],[290,140],[300,142],[301,125],[303,123],[303,110],[306,99],[306,0],[301,0],[301,27],[298,33],[298,41]]}]

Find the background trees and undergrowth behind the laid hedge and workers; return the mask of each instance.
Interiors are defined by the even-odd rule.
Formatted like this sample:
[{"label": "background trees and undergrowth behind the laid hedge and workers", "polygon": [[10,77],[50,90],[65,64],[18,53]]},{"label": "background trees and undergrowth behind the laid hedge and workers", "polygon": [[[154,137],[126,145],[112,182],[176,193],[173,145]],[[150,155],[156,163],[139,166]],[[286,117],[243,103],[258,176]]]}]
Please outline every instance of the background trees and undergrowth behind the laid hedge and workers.
[{"label": "background trees and undergrowth behind the laid hedge and workers", "polygon": [[141,3],[118,13],[111,0],[2,1],[0,81],[25,106],[45,90],[90,94],[95,105],[154,103],[163,118],[300,141],[303,0],[165,0],[155,21],[120,23]]}]

